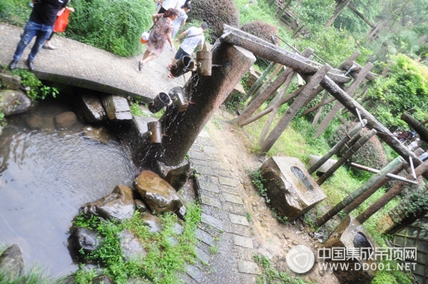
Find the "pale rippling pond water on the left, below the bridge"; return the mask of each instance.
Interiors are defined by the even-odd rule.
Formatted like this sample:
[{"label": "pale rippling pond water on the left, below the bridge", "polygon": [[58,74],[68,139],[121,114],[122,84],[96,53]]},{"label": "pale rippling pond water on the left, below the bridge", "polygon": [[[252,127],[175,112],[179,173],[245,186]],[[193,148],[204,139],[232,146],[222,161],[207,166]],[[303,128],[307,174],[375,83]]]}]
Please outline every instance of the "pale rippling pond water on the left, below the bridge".
[{"label": "pale rippling pond water on the left, below the bridge", "polygon": [[71,105],[41,103],[32,113],[43,118],[42,128],[26,126],[26,113],[8,118],[0,136],[0,246],[18,244],[26,268],[36,264],[54,277],[77,270],[68,230],[78,208],[134,179],[114,136],[94,141],[81,121],[55,128],[54,116]]}]

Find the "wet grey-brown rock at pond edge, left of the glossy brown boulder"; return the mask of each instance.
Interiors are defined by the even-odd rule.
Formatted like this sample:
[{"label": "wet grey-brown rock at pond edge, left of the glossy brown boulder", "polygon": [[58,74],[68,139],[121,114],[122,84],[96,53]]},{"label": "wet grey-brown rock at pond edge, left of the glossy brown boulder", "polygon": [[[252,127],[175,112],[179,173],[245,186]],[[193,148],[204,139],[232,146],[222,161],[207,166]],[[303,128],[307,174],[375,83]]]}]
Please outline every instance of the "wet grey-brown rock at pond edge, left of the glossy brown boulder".
[{"label": "wet grey-brown rock at pond edge, left of the glossy brown boulder", "polygon": [[135,211],[132,189],[128,186],[116,186],[108,196],[84,204],[79,211],[86,216],[97,215],[119,221],[132,218]]}]

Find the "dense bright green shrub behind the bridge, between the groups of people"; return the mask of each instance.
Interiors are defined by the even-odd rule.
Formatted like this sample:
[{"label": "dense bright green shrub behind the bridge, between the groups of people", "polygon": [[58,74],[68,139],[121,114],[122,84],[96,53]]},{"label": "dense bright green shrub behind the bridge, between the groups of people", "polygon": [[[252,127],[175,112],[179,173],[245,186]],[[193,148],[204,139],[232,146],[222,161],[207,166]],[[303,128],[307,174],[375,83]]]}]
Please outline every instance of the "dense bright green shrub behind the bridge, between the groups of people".
[{"label": "dense bright green shrub behind the bridge, between the groups of people", "polygon": [[120,56],[141,52],[140,36],[150,29],[156,6],[144,0],[73,0],[66,35]]}]

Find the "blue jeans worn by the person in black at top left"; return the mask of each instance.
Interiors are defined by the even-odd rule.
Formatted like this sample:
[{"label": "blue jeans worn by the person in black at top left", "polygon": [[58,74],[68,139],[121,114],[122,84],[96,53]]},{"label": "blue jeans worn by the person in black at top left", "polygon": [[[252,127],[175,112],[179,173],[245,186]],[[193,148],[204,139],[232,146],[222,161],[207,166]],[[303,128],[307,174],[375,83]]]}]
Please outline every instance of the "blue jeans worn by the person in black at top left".
[{"label": "blue jeans worn by the person in black at top left", "polygon": [[31,48],[29,54],[29,61],[33,61],[46,39],[51,35],[52,29],[54,29],[54,26],[46,26],[37,24],[34,21],[28,21],[24,27],[24,34],[21,36],[21,41],[16,46],[14,61],[19,61],[26,46],[36,36],[36,42],[34,42],[34,46]]}]

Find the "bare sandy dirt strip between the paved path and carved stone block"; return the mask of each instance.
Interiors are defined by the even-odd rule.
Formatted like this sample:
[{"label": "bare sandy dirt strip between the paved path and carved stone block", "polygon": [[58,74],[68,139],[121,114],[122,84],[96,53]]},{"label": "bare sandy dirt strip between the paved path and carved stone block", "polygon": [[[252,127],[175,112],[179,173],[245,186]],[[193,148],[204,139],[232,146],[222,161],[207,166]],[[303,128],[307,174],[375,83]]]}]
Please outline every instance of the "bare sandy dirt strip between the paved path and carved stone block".
[{"label": "bare sandy dirt strip between the paved path and carved stone block", "polygon": [[[258,254],[267,256],[270,263],[280,272],[287,272],[292,277],[300,277],[311,283],[338,283],[330,271],[320,271],[317,263],[307,273],[293,273],[285,262],[288,250],[295,245],[306,245],[315,253],[320,246],[319,236],[310,233],[302,220],[292,224],[280,223],[262,197],[258,195],[250,179],[250,173],[259,168],[262,159],[249,153],[250,142],[245,133],[228,121],[234,116],[227,111],[218,110],[205,127],[215,143],[220,156],[230,166],[230,171],[239,181],[238,191],[245,200],[247,212],[251,218],[253,243]],[[312,236],[311,236],[312,235]]]}]

